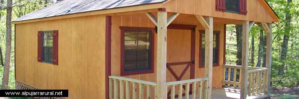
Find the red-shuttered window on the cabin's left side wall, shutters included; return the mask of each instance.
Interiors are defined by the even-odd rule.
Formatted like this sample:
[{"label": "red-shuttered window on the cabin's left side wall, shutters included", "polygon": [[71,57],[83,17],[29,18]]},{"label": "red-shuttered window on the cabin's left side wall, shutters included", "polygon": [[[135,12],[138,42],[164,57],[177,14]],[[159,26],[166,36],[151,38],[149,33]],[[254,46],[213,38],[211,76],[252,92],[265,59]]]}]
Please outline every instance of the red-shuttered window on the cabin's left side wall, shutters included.
[{"label": "red-shuttered window on the cabin's left side wall, shutters included", "polygon": [[38,31],[37,61],[58,65],[58,30]]}]

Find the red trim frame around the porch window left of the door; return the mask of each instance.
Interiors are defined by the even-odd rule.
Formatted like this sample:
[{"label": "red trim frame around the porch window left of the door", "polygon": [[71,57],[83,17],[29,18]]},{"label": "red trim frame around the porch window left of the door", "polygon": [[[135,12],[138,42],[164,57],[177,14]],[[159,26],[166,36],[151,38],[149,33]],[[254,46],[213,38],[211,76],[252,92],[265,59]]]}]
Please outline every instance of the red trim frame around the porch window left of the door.
[{"label": "red trim frame around the porch window left of the door", "polygon": [[[120,27],[121,29],[121,76],[127,75],[137,75],[137,74],[146,74],[153,73],[154,70],[154,31],[155,28],[146,28],[146,27]],[[124,64],[124,55],[125,55],[125,30],[145,30],[151,31],[151,40],[150,40],[150,70],[148,71],[134,71],[134,72],[125,72],[125,64]]]}]

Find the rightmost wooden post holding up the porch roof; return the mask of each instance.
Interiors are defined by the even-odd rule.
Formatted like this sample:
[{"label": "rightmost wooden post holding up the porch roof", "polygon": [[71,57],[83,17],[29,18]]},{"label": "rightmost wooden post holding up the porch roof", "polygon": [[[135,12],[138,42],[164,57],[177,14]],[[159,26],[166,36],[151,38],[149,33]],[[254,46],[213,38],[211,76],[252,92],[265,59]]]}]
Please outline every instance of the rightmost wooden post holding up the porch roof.
[{"label": "rightmost wooden post holding up the porch roof", "polygon": [[266,50],[266,68],[269,68],[268,77],[266,76],[266,82],[268,82],[268,89],[266,93],[270,95],[270,83],[271,83],[271,68],[272,68],[272,24],[267,24],[269,32],[267,33],[267,50]]}]

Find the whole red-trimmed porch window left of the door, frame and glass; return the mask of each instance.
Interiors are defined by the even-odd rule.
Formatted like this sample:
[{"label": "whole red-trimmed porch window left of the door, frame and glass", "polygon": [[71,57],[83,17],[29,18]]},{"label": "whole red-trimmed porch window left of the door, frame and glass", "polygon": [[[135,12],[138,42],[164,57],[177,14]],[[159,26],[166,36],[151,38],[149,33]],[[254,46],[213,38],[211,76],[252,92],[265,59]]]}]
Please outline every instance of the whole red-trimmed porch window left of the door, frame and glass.
[{"label": "whole red-trimmed porch window left of the door, frame and glass", "polygon": [[121,27],[121,75],[153,72],[154,28]]}]

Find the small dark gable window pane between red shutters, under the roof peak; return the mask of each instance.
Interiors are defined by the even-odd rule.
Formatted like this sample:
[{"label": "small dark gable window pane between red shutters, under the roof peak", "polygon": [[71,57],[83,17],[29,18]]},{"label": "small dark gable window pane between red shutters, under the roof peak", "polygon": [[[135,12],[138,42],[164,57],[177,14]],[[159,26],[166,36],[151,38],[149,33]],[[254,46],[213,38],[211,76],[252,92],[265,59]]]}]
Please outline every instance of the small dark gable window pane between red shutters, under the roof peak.
[{"label": "small dark gable window pane between red shutters, under the roof peak", "polygon": [[225,0],[226,11],[239,13],[239,0]]}]

